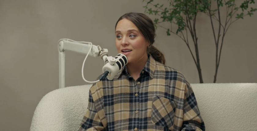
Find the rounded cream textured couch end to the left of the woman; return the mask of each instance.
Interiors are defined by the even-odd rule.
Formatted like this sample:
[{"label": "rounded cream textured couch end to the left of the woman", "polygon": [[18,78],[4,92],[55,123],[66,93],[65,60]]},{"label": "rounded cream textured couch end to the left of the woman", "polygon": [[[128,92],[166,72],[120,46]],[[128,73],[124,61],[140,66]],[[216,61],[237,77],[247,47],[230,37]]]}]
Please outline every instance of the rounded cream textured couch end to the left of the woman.
[{"label": "rounded cream textured couch end to the left of the woman", "polygon": [[88,106],[92,85],[57,89],[46,94],[34,112],[30,131],[75,131]]}]

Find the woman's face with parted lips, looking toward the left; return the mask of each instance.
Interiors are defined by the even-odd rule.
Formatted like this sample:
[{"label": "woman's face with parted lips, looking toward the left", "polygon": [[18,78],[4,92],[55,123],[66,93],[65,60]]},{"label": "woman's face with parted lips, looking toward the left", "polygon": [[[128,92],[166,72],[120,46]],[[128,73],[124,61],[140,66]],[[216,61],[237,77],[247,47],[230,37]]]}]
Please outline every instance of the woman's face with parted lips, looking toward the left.
[{"label": "woman's face with parted lips, looking toward the left", "polygon": [[127,56],[128,63],[137,62],[144,56],[147,57],[148,42],[130,20],[120,20],[115,34],[117,51]]}]

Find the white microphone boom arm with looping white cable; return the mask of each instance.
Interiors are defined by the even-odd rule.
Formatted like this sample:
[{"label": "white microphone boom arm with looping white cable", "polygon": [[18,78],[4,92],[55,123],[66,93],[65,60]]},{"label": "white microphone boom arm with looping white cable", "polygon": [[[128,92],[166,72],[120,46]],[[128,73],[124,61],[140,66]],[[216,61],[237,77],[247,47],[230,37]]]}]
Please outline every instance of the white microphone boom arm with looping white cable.
[{"label": "white microphone boom arm with looping white cable", "polygon": [[[105,69],[102,69],[102,71],[103,71],[102,76],[104,76],[104,77],[107,76],[107,78],[109,80],[112,80],[113,77],[116,75],[116,74],[112,73],[112,70],[114,68],[112,66],[116,66],[117,69],[121,69],[120,68],[121,67],[121,62],[117,63],[116,62],[116,57],[115,58],[112,57],[112,56],[108,57],[108,54],[107,54],[108,49],[102,49],[99,45],[95,46],[91,42],[73,41],[73,40],[70,40],[70,39],[60,39],[58,41],[59,88],[64,88],[65,87],[65,52],[64,52],[65,50],[73,51],[73,52],[76,52],[76,53],[86,55],[86,58],[84,59],[83,66],[82,66],[82,78],[83,78],[84,81],[86,81],[88,83],[95,83],[95,82],[100,81],[100,80],[97,80],[97,81],[94,81],[94,82],[90,82],[90,81],[87,81],[87,80],[84,79],[83,69],[84,69],[84,63],[85,63],[88,55],[90,55],[92,57],[100,57],[101,56],[102,60],[104,61],[104,67],[105,67]],[[126,58],[126,60],[127,60],[127,58]],[[111,66],[109,67],[109,64],[106,65],[107,63],[109,63]],[[124,62],[122,62],[122,63],[124,63]],[[107,66],[108,66],[108,68],[107,68]],[[122,64],[122,66],[123,66],[123,64]],[[108,69],[112,69],[112,70],[108,70]],[[115,70],[115,73],[116,72],[117,72],[117,70]],[[101,80],[104,78],[102,76],[100,77]]]}]

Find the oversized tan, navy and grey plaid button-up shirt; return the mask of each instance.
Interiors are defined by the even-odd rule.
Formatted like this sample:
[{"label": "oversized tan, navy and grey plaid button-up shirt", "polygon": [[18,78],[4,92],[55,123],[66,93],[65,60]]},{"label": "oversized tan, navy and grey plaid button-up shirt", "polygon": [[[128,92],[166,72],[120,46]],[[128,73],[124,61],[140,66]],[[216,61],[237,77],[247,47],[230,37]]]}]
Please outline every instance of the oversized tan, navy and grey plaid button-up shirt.
[{"label": "oversized tan, navy and grey plaid button-up shirt", "polygon": [[124,67],[94,83],[79,131],[205,130],[191,85],[179,71],[148,61],[134,80]]}]

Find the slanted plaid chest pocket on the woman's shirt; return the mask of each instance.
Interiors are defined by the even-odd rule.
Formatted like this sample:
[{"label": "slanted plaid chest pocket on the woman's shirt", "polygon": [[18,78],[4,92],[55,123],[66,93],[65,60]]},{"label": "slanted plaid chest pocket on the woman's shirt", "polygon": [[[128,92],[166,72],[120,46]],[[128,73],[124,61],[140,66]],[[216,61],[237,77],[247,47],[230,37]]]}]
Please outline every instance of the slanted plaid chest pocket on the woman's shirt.
[{"label": "slanted plaid chest pocket on the woman's shirt", "polygon": [[152,101],[151,122],[170,130],[174,128],[176,102],[164,97],[154,96]]}]

